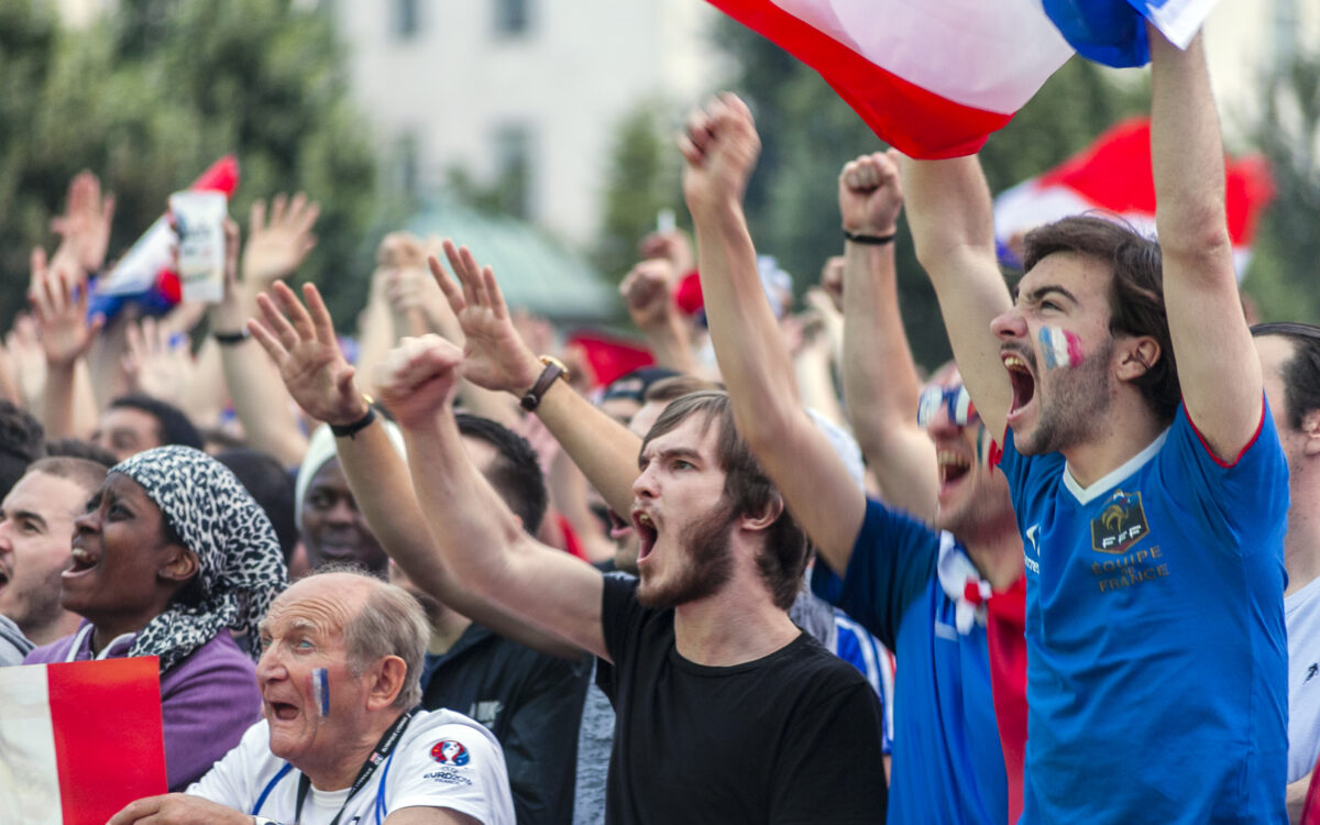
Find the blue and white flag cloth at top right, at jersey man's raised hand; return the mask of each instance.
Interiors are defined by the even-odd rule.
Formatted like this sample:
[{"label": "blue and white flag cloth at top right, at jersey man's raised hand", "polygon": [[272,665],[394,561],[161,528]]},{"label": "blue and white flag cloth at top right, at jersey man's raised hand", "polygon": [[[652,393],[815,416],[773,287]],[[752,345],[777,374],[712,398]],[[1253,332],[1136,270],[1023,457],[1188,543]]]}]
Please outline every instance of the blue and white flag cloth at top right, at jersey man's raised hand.
[{"label": "blue and white flag cloth at top right, at jersey man's raised hand", "polygon": [[1106,66],[1151,59],[1146,21],[1185,49],[1218,0],[1041,0],[1049,20],[1077,54]]}]

